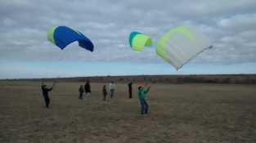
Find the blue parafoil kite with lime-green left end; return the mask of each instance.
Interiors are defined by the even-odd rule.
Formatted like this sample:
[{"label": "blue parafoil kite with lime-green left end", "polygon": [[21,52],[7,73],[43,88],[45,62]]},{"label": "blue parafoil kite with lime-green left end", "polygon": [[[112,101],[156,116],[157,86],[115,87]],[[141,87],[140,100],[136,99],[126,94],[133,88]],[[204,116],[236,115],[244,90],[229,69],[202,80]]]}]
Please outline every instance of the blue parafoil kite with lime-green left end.
[{"label": "blue parafoil kite with lime-green left end", "polygon": [[66,26],[52,27],[47,33],[47,38],[50,42],[60,47],[63,50],[71,42],[78,41],[79,47],[83,47],[88,51],[93,51],[92,41],[85,37],[78,30],[71,29]]}]

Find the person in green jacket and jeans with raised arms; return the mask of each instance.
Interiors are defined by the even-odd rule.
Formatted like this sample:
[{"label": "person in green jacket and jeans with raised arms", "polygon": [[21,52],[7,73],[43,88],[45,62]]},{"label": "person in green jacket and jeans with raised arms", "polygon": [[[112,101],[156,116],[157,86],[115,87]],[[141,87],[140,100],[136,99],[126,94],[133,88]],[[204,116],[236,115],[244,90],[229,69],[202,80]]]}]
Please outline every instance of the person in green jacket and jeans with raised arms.
[{"label": "person in green jacket and jeans with raised arms", "polygon": [[146,103],[146,93],[150,91],[150,87],[147,87],[145,90],[144,87],[138,87],[138,97],[141,103],[141,115],[147,114],[148,112],[148,105]]}]

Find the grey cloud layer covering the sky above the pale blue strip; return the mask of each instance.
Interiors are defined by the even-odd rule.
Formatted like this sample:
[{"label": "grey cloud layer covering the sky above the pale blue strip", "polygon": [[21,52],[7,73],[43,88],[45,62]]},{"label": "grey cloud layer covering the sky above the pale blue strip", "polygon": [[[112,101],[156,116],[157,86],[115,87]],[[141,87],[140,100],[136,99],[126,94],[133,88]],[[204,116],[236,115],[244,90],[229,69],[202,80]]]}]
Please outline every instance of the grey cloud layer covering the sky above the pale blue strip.
[{"label": "grey cloud layer covering the sky above the pale blue strip", "polygon": [[[155,42],[168,29],[190,23],[213,39],[214,48],[195,63],[255,62],[256,1],[30,1],[0,2],[0,60],[83,60],[164,62],[154,50],[129,49],[133,30]],[[92,39],[95,52],[71,44],[61,51],[47,42],[55,25],[79,29]]]}]

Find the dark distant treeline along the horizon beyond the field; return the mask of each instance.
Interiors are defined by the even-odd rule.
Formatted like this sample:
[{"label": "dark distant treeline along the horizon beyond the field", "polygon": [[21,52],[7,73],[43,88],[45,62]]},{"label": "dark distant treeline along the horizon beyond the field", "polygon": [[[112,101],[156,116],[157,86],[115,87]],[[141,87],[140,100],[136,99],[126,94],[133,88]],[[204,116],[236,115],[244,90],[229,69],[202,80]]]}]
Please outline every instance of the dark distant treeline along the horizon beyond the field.
[{"label": "dark distant treeline along the horizon beyond the field", "polygon": [[[96,76],[77,78],[47,78],[45,80],[58,82],[85,82],[92,83],[227,83],[227,84],[256,84],[256,74],[218,74],[218,75],[135,75],[135,76]],[[39,81],[41,79],[6,79]]]}]

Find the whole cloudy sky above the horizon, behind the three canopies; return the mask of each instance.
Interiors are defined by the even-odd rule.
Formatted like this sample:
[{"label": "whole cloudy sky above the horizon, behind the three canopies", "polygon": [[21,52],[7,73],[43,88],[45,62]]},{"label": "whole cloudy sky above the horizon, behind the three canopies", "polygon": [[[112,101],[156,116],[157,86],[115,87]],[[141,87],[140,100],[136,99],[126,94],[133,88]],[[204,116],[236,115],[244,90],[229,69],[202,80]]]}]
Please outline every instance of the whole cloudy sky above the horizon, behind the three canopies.
[{"label": "whole cloudy sky above the horizon, behind the three canopies", "polygon": [[[134,74],[256,74],[255,0],[8,0],[0,1],[0,78]],[[92,39],[63,51],[47,30],[65,25]],[[155,44],[132,51],[141,31],[154,43],[168,29],[194,25],[213,42],[178,71],[155,54]]]}]

